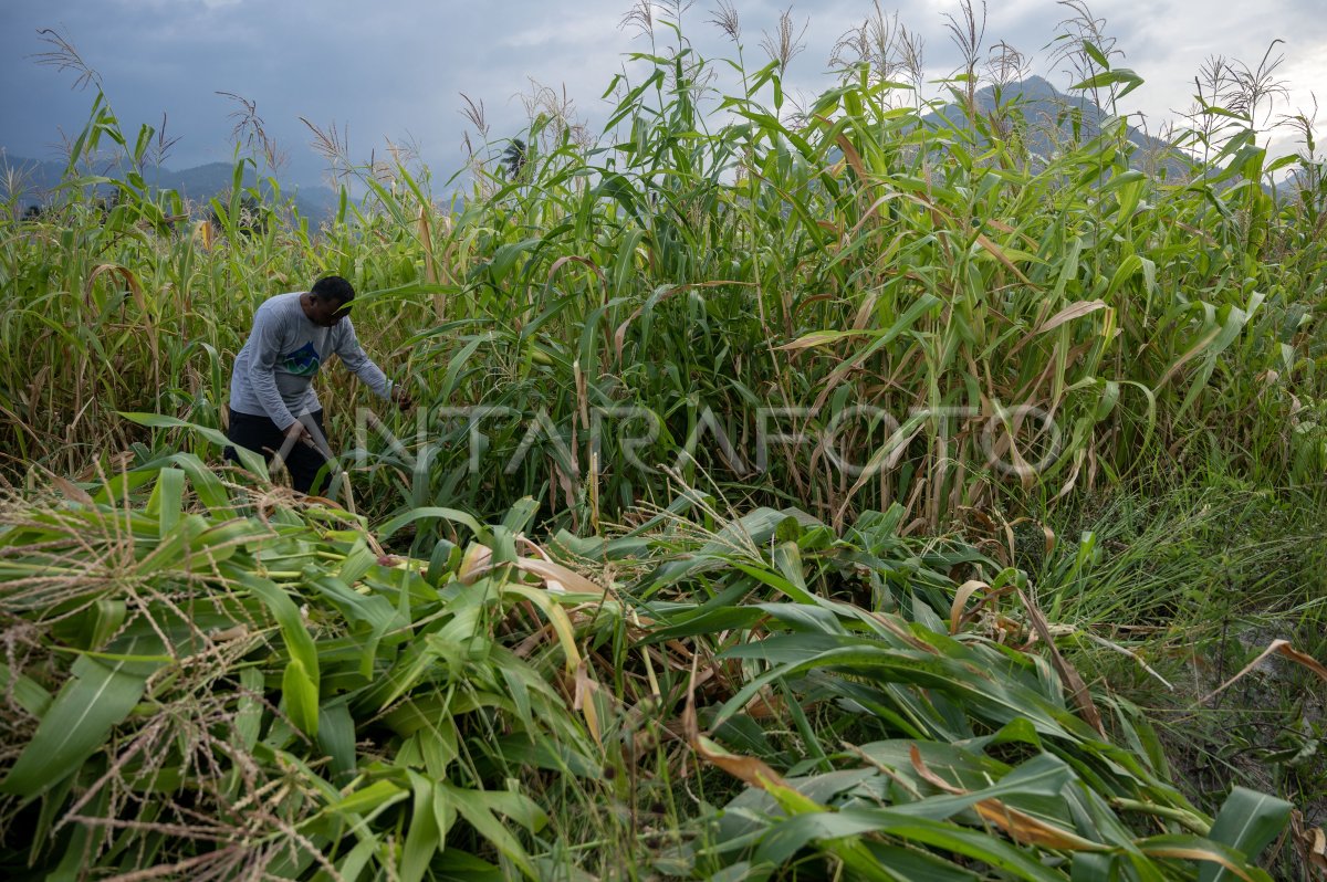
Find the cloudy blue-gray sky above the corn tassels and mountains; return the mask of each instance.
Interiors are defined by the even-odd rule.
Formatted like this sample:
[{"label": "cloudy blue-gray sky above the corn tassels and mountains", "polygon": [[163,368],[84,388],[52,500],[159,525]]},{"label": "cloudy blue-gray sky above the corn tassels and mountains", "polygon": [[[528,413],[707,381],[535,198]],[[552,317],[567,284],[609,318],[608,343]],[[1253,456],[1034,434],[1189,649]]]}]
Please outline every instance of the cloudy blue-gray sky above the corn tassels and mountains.
[{"label": "cloudy blue-gray sky above the corn tassels and mountains", "polygon": [[[1327,131],[1327,15],[1324,0],[1092,0],[1093,15],[1147,84],[1125,101],[1156,127],[1190,103],[1193,76],[1213,54],[1255,66],[1273,40],[1285,53],[1278,74],[1290,101],[1283,111],[1311,107],[1323,94],[1318,131]],[[776,28],[786,3],[735,0],[748,64],[764,61],[766,31]],[[958,0],[884,1],[886,12],[925,41],[936,77],[950,73],[957,52],[945,13]],[[300,117],[336,123],[350,153],[366,160],[386,139],[418,147],[435,176],[463,163],[462,93],[482,101],[492,137],[516,134],[524,119],[519,93],[531,81],[573,99],[592,126],[614,73],[630,70],[626,53],[649,49],[621,20],[629,0],[0,0],[0,149],[11,157],[54,159],[61,133],[86,122],[92,92],[72,89],[76,74],[38,64],[50,49],[38,29],[56,29],[94,68],[122,125],[159,123],[180,139],[167,164],[175,168],[228,160],[231,113],[238,105],[216,93],[255,102],[268,134],[289,155],[289,175],[316,180],[325,166],[314,155]],[[706,57],[731,57],[734,46],[709,20],[715,0],[698,0],[683,29]],[[800,0],[792,8],[807,25],[803,52],[788,80],[811,97],[829,88],[827,60],[836,38],[873,12],[872,0]],[[1062,89],[1066,74],[1046,46],[1070,9],[1054,0],[990,0],[986,42],[1005,40],[1032,58],[1032,69]],[[661,40],[664,33],[658,34]],[[1286,149],[1290,149],[1286,142]]]}]

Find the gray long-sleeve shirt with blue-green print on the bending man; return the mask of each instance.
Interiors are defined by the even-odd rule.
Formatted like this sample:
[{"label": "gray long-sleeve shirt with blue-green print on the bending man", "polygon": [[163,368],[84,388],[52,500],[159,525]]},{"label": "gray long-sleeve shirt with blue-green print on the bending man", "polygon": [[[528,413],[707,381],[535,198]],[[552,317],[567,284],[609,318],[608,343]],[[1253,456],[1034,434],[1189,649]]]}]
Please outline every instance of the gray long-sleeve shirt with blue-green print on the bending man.
[{"label": "gray long-sleeve shirt with blue-green print on the bending man", "polygon": [[253,330],[235,358],[231,374],[231,410],[267,416],[277,428],[288,428],[297,415],[320,410],[313,377],[330,355],[386,398],[387,377],[374,365],[354,336],[350,318],[332,328],[309,321],[300,306],[303,292],[277,294],[253,313]]}]

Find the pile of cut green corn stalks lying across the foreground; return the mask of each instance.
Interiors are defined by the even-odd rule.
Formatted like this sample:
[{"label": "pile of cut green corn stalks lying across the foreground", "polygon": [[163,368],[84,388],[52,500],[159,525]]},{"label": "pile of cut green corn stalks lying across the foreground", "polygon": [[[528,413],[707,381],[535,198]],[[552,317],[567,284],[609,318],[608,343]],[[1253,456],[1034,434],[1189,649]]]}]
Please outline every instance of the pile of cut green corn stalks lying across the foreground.
[{"label": "pile of cut green corn stalks lying across the foreground", "polygon": [[1270,878],[1291,806],[1198,812],[1143,719],[1027,646],[1034,609],[954,580],[1020,574],[901,508],[381,531],[435,531],[423,561],[337,508],[130,477],[0,509],[13,878]]}]

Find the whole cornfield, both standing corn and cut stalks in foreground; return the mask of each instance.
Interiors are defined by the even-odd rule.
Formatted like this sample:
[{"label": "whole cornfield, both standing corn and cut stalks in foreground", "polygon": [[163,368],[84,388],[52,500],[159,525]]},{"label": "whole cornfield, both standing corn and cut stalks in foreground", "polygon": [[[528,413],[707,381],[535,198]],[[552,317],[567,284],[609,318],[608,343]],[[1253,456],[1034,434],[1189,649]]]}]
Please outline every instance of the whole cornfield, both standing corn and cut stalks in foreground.
[{"label": "whole cornfield, both standing corn and cut stalks in foreground", "polygon": [[[1091,41],[1093,113],[1047,129],[975,61],[924,101],[869,53],[794,113],[788,48],[750,66],[735,12],[733,60],[649,24],[601,137],[539,109],[446,207],[426,168],[352,168],[314,229],[242,158],[199,223],[86,174],[153,137],[101,93],[62,202],[12,195],[0,866],[1327,869],[1320,698],[1294,692],[1290,777],[1200,794],[1123,684],[1172,686],[1249,617],[1291,629],[1263,655],[1304,695],[1327,680],[1311,126],[1273,159],[1253,109],[1209,106],[1141,168],[1116,115],[1140,80]],[[325,273],[418,403],[324,371],[334,500],[220,455],[253,310]],[[1128,533],[1177,475],[1201,505]],[[1193,707],[1239,667],[1194,674]]]}]

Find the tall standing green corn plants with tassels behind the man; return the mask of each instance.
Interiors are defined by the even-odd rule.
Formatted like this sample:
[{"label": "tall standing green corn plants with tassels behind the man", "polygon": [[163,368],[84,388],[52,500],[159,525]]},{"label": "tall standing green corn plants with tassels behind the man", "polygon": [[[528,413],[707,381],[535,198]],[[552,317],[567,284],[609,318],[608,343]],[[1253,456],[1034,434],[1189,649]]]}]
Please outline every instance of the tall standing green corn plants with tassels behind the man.
[{"label": "tall standing green corn plants with tassels behind the man", "polygon": [[[356,451],[382,516],[460,500],[496,515],[531,495],[541,517],[593,525],[665,503],[661,466],[837,527],[898,499],[929,528],[1038,509],[1157,456],[1318,473],[1320,214],[1311,187],[1265,192],[1287,160],[1251,122],[1149,174],[1104,110],[1091,126],[1074,110],[1034,153],[1015,92],[987,113],[955,82],[963,101],[941,106],[868,64],[792,123],[787,61],[751,70],[739,52],[721,93],[673,28],[675,49],[636,53],[614,81],[598,141],[536,114],[519,174],[480,154],[458,212],[427,170],[352,167],[368,195],[344,195],[329,228],[240,235],[243,199],[280,192],[244,186],[256,159],[214,200],[218,229],[131,179],[104,216],[72,162],[64,207],[0,221],[8,473],[90,475],[182,440],[119,411],[222,426],[257,302],[325,272],[372,294],[361,337],[435,416],[387,420],[401,444],[370,434]],[[1119,103],[1137,85],[1083,53],[1082,93]],[[119,145],[133,166],[130,141],[98,97],[80,149]],[[1289,159],[1310,182],[1312,150]],[[324,382],[349,439],[356,387]],[[511,415],[486,423],[478,470],[472,427],[438,416],[466,407]],[[637,424],[592,431],[625,409]],[[808,440],[760,456],[770,411],[775,434]],[[650,468],[624,440],[641,427]]]}]

